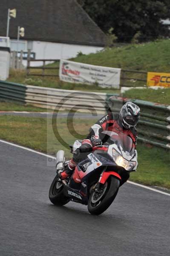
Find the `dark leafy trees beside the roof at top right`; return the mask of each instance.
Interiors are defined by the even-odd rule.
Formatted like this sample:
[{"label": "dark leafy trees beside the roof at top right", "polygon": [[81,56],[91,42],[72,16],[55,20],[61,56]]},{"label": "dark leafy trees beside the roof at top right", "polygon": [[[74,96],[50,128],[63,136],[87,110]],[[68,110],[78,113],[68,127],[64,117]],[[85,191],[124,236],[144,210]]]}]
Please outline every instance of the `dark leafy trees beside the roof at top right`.
[{"label": "dark leafy trees beside the roof at top right", "polygon": [[[78,0],[89,16],[104,31],[113,27],[118,41],[150,41],[168,35],[161,19],[168,18],[169,0]],[[169,7],[169,8],[168,8]]]}]

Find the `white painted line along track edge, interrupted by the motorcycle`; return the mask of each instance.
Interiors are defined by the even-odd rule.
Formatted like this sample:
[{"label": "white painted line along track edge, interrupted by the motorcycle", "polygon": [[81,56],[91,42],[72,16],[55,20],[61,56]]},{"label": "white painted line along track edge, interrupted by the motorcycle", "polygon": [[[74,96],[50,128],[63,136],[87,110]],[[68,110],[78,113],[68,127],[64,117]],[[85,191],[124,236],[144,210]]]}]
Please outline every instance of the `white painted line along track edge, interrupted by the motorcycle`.
[{"label": "white painted line along track edge, interrupted by the motorcycle", "polygon": [[[45,157],[50,157],[50,158],[52,158],[52,159],[55,159],[55,157],[53,157],[53,156],[51,156],[51,155],[48,155],[48,154],[44,154],[44,153],[35,151],[35,150],[31,149],[31,148],[26,148],[26,147],[23,147],[23,146],[14,144],[14,143],[10,143],[10,142],[5,141],[5,140],[0,140],[0,142],[6,143],[6,144],[8,144],[8,145],[12,145],[12,146],[17,147],[17,148],[22,148],[22,149],[24,149],[24,150],[27,150],[27,151],[30,151],[30,152],[33,152],[33,153],[36,153],[36,154],[40,154],[40,155],[45,156]],[[129,180],[128,180],[127,182],[130,183],[130,184],[132,184],[132,185],[135,185],[135,186],[140,186],[141,188],[144,188],[144,189],[149,189],[149,190],[151,190],[151,191],[154,191],[154,192],[157,192],[157,193],[160,193],[160,194],[163,194],[163,195],[168,195],[168,196],[170,196],[170,194],[168,194],[168,193],[166,193],[166,192],[163,192],[163,191],[161,191],[161,190],[158,190],[158,189],[153,189],[153,188],[150,188],[150,187],[148,187],[148,186],[144,186],[144,185],[141,185],[141,184],[138,184],[138,183],[129,181]]]}]

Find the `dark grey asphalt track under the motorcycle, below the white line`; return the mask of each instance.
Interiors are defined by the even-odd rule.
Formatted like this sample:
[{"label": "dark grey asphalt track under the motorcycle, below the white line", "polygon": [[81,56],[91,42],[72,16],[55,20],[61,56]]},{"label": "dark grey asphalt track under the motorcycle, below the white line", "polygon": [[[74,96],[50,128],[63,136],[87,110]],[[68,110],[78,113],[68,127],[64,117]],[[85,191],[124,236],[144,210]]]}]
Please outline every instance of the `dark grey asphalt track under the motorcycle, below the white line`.
[{"label": "dark grey asphalt track under the motorcycle, below the white line", "polygon": [[168,256],[170,196],[126,183],[99,216],[48,198],[47,157],[0,142],[0,256]]}]

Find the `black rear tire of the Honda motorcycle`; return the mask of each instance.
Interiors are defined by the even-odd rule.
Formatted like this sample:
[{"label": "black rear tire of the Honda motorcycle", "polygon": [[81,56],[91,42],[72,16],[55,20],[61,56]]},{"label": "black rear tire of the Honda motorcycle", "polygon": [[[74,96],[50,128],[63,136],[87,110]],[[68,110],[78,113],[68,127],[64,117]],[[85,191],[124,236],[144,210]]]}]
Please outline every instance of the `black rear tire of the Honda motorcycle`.
[{"label": "black rear tire of the Honda motorcycle", "polygon": [[49,189],[49,200],[52,204],[62,206],[69,202],[69,198],[64,195],[63,189],[63,183],[60,182],[58,175],[56,175]]}]

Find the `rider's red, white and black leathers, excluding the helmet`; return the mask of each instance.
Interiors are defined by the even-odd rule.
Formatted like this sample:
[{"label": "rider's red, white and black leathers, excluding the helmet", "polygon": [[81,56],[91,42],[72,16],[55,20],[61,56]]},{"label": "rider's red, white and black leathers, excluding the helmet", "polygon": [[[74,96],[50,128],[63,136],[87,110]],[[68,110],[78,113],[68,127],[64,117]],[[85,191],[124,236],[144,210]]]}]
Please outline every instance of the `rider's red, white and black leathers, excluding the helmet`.
[{"label": "rider's red, white and black leathers, excluding the helmet", "polygon": [[[96,140],[101,139],[103,142],[105,142],[104,137],[101,134],[102,131],[114,131],[117,134],[126,134],[127,136],[130,136],[132,138],[134,146],[136,146],[136,140],[138,137],[136,128],[132,127],[130,129],[125,129],[123,125],[121,125],[121,123],[119,122],[119,115],[116,114],[113,116],[113,114],[110,112],[107,115],[103,116],[101,119],[99,119],[98,122],[96,122],[94,125],[92,125],[89,131],[89,135],[81,143],[81,148],[92,148],[92,137],[95,137]],[[78,157],[82,159],[80,155]],[[73,154],[73,158],[70,160],[67,170],[61,173],[61,177],[66,178],[71,175],[77,163],[77,156]]]}]

